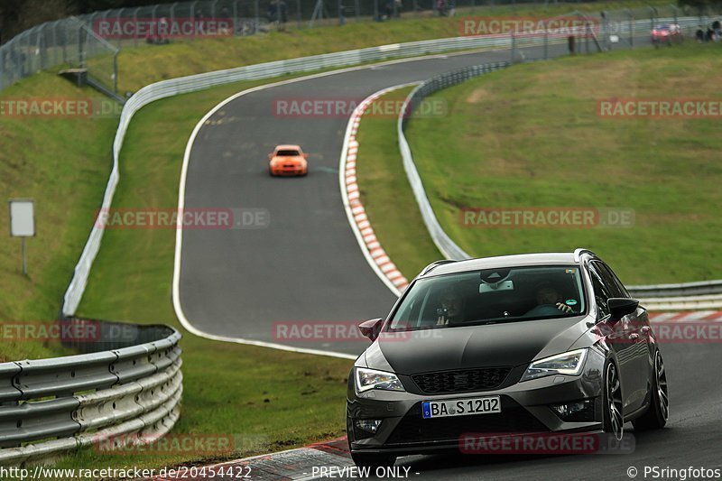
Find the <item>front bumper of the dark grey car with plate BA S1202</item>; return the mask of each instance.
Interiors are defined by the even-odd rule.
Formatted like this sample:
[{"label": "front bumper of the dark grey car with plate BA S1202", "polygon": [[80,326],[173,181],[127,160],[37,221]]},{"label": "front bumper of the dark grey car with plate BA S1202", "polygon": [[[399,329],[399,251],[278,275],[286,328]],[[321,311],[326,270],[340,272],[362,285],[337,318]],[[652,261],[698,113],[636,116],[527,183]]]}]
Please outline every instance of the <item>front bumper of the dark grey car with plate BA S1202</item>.
[{"label": "front bumper of the dark grey car with plate BA S1202", "polygon": [[[493,391],[423,395],[372,390],[356,393],[353,380],[347,396],[347,435],[352,452],[393,453],[457,451],[465,434],[550,433],[601,430],[604,357],[588,356],[581,375],[551,375]],[[525,368],[525,366],[523,366]],[[514,369],[518,375],[523,369]],[[520,375],[519,375],[520,376]],[[405,376],[404,376],[405,377]],[[421,402],[498,395],[502,412],[422,419]],[[588,400],[585,421],[564,421],[552,405]],[[593,410],[593,414],[591,412]],[[382,420],[370,433],[356,420]]]}]

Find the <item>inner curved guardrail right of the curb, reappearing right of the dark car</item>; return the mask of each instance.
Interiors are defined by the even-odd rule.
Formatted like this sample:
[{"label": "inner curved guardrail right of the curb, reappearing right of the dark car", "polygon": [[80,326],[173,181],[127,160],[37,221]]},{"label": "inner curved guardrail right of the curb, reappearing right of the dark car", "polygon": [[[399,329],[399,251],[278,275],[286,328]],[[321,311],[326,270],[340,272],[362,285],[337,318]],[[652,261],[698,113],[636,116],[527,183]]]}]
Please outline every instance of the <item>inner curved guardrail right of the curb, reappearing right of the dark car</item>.
[{"label": "inner curved guardrail right of the curb, reappearing right of the dark car", "polygon": [[[403,169],[411,184],[421,217],[429,231],[434,244],[447,259],[468,259],[467,254],[459,247],[444,229],[434,214],[429,198],[426,196],[423,182],[416,164],[413,162],[411,147],[403,134],[414,109],[421,101],[443,88],[449,88],[468,79],[485,73],[508,67],[508,62],[476,65],[448,72],[422,82],[406,97],[397,122],[399,150],[402,154]],[[644,307],[650,310],[705,310],[722,307],[722,281],[689,282],[683,284],[660,284],[630,286],[630,294],[643,301]]]}]

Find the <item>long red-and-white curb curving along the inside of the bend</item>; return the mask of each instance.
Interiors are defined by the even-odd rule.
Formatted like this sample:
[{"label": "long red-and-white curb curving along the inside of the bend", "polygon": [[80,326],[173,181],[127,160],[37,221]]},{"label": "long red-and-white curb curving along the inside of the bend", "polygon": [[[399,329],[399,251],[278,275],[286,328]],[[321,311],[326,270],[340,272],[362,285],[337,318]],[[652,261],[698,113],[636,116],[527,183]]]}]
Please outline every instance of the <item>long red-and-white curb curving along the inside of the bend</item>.
[{"label": "long red-and-white curb curving along the inside of the bend", "polygon": [[416,84],[403,84],[391,88],[384,88],[372,96],[366,97],[356,106],[356,109],[348,121],[338,172],[341,196],[344,199],[348,223],[356,235],[358,245],[361,247],[361,250],[366,256],[366,261],[371,265],[376,275],[378,275],[397,296],[400,296],[403,290],[406,289],[409,281],[403,276],[396,265],[393,264],[388,254],[386,254],[386,251],[384,251],[384,247],[382,247],[375,235],[374,227],[371,227],[371,223],[366,215],[366,209],[361,203],[361,194],[356,178],[356,160],[359,148],[356,134],[358,132],[358,126],[361,124],[361,117],[377,98],[398,88],[411,85]]}]

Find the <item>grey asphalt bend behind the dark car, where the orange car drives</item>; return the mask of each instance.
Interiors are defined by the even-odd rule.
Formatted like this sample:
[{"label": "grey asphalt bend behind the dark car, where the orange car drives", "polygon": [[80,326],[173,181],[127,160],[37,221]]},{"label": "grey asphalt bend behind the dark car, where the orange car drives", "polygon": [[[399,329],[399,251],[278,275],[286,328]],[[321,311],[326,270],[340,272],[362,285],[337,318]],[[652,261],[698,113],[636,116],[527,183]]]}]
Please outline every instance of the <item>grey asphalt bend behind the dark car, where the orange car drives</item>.
[{"label": "grey asphalt bend behind the dark car, where the orange car drives", "polygon": [[[566,46],[550,51],[560,55]],[[261,208],[270,225],[183,231],[180,305],[190,323],[218,336],[359,354],[366,339],[294,343],[276,336],[275,323],[384,317],[396,298],[366,263],[343,207],[338,161],[348,117],[278,116],[274,102],[360,101],[382,88],[509,56],[403,61],[303,80],[238,97],[208,118],[190,152],[185,208]],[[300,143],[310,153],[308,177],[269,176],[266,155],[278,143]]]}]

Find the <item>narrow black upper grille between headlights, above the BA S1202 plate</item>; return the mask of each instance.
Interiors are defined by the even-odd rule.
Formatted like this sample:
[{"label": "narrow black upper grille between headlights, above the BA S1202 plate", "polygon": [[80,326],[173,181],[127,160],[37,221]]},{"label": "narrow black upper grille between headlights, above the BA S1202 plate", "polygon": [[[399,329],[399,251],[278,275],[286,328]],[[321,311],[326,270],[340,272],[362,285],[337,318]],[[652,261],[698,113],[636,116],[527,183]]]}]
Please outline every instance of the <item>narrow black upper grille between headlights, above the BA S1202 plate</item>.
[{"label": "narrow black upper grille between headlights, above the BA S1202 plate", "polygon": [[487,367],[412,375],[425,394],[466,393],[495,389],[504,383],[511,367]]}]

